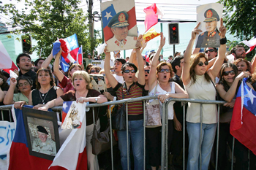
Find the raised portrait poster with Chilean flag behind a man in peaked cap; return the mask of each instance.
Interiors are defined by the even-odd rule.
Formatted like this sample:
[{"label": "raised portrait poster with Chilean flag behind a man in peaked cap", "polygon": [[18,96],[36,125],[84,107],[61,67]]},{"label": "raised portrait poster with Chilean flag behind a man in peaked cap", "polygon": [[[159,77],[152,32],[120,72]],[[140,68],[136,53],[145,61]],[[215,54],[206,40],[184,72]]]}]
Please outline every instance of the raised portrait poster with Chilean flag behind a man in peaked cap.
[{"label": "raised portrait poster with Chilean flag behind a man in peaked cap", "polygon": [[138,37],[135,1],[106,1],[100,7],[108,51],[135,48]]}]

